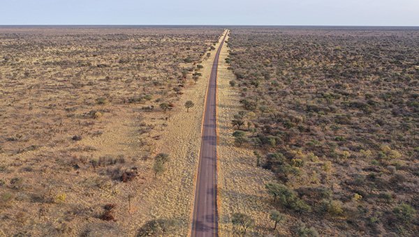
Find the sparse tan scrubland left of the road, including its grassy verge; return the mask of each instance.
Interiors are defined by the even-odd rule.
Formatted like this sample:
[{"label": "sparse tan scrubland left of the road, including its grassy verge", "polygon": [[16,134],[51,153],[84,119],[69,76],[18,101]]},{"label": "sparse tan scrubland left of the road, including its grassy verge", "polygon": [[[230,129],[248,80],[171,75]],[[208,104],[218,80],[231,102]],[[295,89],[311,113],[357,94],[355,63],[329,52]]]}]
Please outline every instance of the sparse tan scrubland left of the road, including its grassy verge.
[{"label": "sparse tan scrubland left of the road, including its grassy verge", "polygon": [[222,33],[2,26],[0,236],[186,236]]}]

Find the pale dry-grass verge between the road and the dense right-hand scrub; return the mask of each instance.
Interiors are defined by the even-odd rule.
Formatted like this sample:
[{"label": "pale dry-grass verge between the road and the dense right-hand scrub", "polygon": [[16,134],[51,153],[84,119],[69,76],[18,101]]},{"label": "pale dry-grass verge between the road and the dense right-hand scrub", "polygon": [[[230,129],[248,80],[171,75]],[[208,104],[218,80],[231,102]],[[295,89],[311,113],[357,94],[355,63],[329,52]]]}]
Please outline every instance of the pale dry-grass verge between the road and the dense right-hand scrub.
[{"label": "pale dry-grass verge between the road and the dense right-hand scrub", "polygon": [[[226,39],[228,40],[228,39]],[[233,213],[246,213],[256,220],[256,228],[249,234],[265,234],[272,228],[269,220],[270,206],[265,183],[272,181],[272,172],[256,167],[256,158],[247,148],[235,146],[231,120],[240,107],[240,95],[230,87],[235,75],[228,70],[225,59],[228,47],[220,55],[218,77],[217,128],[219,131],[219,236],[235,235],[230,217]]]}]

